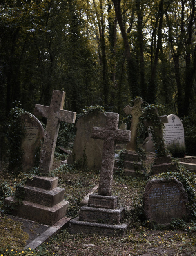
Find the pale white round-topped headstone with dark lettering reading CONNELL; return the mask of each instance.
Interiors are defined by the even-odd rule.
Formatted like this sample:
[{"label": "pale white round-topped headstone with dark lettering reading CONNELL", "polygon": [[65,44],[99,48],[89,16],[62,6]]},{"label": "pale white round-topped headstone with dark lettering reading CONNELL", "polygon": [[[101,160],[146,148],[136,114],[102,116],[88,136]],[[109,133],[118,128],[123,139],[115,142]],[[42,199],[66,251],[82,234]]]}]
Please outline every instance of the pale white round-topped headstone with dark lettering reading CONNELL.
[{"label": "pale white round-topped headstone with dark lettering reading CONNELL", "polygon": [[165,144],[178,142],[184,146],[184,127],[182,121],[177,115],[170,114],[167,116],[168,123],[164,124],[164,139]]}]

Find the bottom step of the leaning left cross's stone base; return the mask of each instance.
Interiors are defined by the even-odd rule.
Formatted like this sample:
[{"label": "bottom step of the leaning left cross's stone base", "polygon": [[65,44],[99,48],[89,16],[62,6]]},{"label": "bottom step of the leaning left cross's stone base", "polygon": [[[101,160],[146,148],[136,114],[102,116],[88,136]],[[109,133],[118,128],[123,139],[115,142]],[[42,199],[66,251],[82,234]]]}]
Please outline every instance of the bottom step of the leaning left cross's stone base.
[{"label": "bottom step of the leaning left cross's stone base", "polygon": [[69,202],[63,200],[53,207],[40,205],[29,201],[17,203],[14,197],[7,197],[4,200],[4,209],[21,218],[38,221],[46,225],[53,225],[63,218],[67,213]]}]

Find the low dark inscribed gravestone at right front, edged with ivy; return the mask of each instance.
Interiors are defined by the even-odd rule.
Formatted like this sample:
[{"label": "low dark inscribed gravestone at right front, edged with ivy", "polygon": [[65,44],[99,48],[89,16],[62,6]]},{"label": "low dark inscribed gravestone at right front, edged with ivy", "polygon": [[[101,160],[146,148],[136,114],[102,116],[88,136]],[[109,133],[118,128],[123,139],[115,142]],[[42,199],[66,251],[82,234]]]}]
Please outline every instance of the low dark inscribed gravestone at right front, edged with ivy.
[{"label": "low dark inscribed gravestone at right front, edged with ivy", "polygon": [[145,187],[144,212],[147,219],[169,224],[172,218],[189,215],[187,194],[176,178],[152,179]]}]

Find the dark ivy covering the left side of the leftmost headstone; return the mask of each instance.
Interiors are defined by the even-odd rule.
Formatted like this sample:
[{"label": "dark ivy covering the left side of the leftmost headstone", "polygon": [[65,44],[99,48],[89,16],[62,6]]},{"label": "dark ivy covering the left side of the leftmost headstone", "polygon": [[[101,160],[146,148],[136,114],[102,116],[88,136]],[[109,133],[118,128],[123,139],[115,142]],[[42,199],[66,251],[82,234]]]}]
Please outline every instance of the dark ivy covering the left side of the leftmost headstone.
[{"label": "dark ivy covering the left side of the leftmost headstone", "polygon": [[22,170],[22,152],[21,143],[24,137],[24,126],[21,124],[21,115],[27,113],[24,109],[18,107],[20,102],[15,102],[15,108],[9,113],[9,130],[7,138],[9,141],[9,171],[20,172]]}]

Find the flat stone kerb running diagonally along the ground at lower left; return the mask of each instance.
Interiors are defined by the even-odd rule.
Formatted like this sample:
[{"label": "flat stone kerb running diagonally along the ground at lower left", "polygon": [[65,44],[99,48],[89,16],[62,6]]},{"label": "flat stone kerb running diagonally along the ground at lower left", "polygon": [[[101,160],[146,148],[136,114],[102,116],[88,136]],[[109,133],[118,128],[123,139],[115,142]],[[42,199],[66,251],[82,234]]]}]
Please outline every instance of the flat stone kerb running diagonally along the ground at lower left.
[{"label": "flat stone kerb running diagonally along the ground at lower left", "polygon": [[51,238],[53,235],[60,232],[60,230],[65,229],[69,226],[69,221],[71,218],[67,218],[66,216],[54,223],[53,226],[49,227],[45,232],[43,232],[40,236],[35,238],[33,241],[28,243],[24,249],[31,248],[36,249],[38,246],[40,246],[42,243],[49,241],[49,238]]}]

